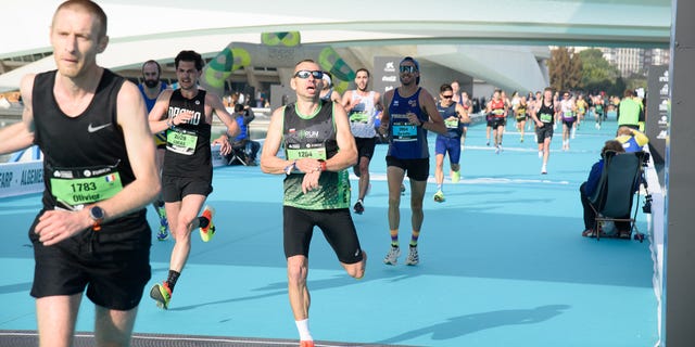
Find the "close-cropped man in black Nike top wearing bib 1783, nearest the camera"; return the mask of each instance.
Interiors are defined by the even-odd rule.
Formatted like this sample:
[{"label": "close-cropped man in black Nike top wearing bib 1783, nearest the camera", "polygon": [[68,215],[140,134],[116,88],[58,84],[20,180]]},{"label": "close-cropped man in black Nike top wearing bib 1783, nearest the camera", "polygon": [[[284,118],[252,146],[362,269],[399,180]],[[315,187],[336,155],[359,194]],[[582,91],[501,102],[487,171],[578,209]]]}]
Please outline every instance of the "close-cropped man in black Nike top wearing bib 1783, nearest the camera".
[{"label": "close-cropped man in black Nike top wearing bib 1783, nearest the camera", "polygon": [[56,69],[24,76],[22,121],[0,128],[0,154],[43,153],[42,208],[28,233],[42,345],[73,343],[85,293],[96,344],[127,345],[150,279],[154,141],[137,86],[97,64],[106,22],[92,1],[61,3],[50,25]]}]

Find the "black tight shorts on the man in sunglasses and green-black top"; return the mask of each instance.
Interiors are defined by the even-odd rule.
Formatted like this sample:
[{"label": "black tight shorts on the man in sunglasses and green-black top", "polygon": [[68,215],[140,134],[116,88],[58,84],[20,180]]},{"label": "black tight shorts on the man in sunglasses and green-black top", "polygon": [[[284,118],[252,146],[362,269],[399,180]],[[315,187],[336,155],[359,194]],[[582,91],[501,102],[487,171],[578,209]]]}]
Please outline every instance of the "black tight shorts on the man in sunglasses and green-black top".
[{"label": "black tight shorts on the man in sunglasses and green-black top", "polygon": [[308,248],[318,227],[343,264],[362,261],[362,247],[357,230],[352,221],[350,209],[302,209],[282,206],[285,256],[287,258],[303,255],[308,258]]}]

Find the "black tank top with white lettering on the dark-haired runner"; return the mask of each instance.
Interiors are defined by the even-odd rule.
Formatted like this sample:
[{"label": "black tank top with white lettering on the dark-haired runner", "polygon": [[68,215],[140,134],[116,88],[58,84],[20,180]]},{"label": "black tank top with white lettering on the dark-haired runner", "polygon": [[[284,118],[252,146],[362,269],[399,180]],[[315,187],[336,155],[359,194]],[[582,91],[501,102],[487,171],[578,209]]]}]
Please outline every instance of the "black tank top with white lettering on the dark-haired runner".
[{"label": "black tank top with white lettering on the dark-haired runner", "polygon": [[210,136],[212,126],[205,121],[205,91],[199,90],[193,99],[186,99],[180,89],[169,99],[168,117],[185,111],[194,116],[188,124],[179,124],[166,131],[166,153],[163,175],[210,179],[213,177]]}]

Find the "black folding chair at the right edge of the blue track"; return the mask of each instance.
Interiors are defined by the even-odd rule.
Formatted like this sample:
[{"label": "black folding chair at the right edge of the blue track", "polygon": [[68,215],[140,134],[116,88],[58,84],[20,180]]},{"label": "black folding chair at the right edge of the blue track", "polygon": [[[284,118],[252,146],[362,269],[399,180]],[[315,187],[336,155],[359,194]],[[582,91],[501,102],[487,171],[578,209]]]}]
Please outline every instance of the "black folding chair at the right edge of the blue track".
[{"label": "black folding chair at the right edge of the blue track", "polygon": [[[644,152],[616,153],[607,151],[604,154],[604,169],[598,187],[589,197],[590,206],[596,214],[594,223],[596,240],[601,239],[602,229],[606,221],[621,221],[630,223],[629,232],[632,235],[634,230],[634,240],[644,241],[644,234],[640,233],[635,223],[639,203],[633,204],[633,197],[639,196],[642,169],[646,158],[647,154]],[[635,207],[634,215],[630,217],[633,205]]]}]

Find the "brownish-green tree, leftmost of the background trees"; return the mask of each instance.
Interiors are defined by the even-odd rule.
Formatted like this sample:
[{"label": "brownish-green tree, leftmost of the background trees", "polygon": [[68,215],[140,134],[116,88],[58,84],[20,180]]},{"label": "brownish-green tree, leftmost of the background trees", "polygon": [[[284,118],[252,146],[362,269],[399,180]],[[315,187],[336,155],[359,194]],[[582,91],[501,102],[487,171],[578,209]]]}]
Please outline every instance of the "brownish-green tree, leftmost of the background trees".
[{"label": "brownish-green tree, leftmost of the background trees", "polygon": [[547,67],[553,89],[582,88],[582,61],[574,54],[573,48],[560,47],[552,50]]}]

